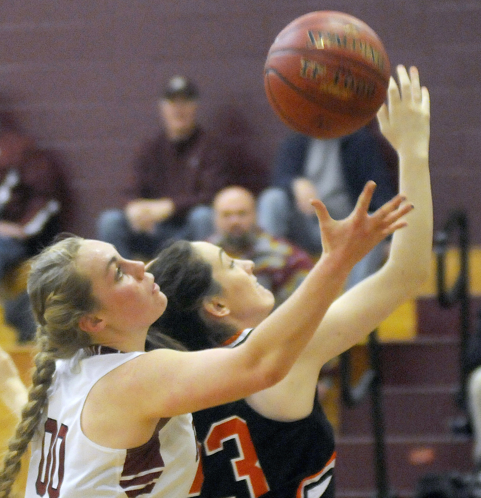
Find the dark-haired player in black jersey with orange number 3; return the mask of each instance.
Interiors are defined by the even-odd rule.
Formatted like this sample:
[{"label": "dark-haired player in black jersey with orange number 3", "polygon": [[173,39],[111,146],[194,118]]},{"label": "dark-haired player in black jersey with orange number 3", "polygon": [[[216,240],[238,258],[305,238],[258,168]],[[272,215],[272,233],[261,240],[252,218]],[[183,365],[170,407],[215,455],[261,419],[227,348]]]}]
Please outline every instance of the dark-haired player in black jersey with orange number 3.
[{"label": "dark-haired player in black jersey with orange number 3", "polygon": [[[400,192],[415,206],[405,217],[408,225],[394,233],[384,266],[330,305],[283,380],[244,400],[194,414],[204,481],[190,496],[334,497],[334,438],[316,400],[321,367],[414,296],[431,262],[429,94],[421,88],[416,68],[408,73],[399,66],[397,75],[399,83],[391,78],[388,104],[378,120],[399,155]],[[150,263],[168,297],[157,330],[150,334],[154,346],[160,346],[162,333],[190,350],[248,341],[250,330],[271,311],[259,299],[261,289],[244,288],[238,280],[240,270],[255,280],[252,262],[231,259],[227,268],[219,268],[218,248],[212,254],[203,246],[207,243],[194,244],[194,251],[189,243],[175,244]],[[297,291],[274,313],[282,318],[296,296]],[[306,299],[305,308],[313,308],[316,299]],[[280,322],[291,325],[287,316]]]}]

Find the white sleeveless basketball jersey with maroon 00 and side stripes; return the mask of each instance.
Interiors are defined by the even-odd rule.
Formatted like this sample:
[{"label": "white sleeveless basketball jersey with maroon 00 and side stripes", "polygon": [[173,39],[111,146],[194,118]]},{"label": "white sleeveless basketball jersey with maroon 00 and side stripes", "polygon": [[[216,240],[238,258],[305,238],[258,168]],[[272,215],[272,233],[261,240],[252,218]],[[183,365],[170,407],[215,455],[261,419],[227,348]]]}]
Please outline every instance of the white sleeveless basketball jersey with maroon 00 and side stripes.
[{"label": "white sleeveless basketball jersey with maroon 00 and side stripes", "polygon": [[48,411],[32,439],[25,497],[188,495],[198,466],[190,414],[172,417],[139,448],[105,448],[83,434],[80,414],[90,389],[105,374],[143,354],[115,350],[104,354],[106,349],[98,347],[95,356],[57,362]]}]

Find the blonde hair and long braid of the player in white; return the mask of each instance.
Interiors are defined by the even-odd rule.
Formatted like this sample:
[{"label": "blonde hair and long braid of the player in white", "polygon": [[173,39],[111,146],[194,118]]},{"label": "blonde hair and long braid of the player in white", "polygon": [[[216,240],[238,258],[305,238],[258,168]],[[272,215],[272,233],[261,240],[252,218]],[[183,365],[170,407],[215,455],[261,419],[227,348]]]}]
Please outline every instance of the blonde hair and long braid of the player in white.
[{"label": "blonde hair and long braid of the player in white", "polygon": [[69,237],[44,249],[32,259],[27,291],[37,321],[32,386],[28,401],[0,471],[0,498],[11,496],[11,489],[20,470],[21,458],[32,439],[48,403],[47,391],[55,372],[55,361],[71,358],[90,344],[88,334],[78,322],[86,313],[98,308],[90,282],[79,274],[75,256],[83,239]]}]

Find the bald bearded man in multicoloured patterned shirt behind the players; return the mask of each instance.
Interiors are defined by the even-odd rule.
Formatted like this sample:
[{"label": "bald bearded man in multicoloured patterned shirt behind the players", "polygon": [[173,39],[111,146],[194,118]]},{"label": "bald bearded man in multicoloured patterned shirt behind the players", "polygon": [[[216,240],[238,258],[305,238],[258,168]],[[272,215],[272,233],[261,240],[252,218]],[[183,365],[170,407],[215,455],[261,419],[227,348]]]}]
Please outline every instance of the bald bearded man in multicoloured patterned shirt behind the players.
[{"label": "bald bearded man in multicoloured patterned shirt behind the players", "polygon": [[222,189],[213,207],[216,232],[209,242],[231,257],[254,261],[258,282],[272,291],[276,306],[281,304],[314,266],[311,256],[259,229],[255,198],[249,190],[238,186]]}]

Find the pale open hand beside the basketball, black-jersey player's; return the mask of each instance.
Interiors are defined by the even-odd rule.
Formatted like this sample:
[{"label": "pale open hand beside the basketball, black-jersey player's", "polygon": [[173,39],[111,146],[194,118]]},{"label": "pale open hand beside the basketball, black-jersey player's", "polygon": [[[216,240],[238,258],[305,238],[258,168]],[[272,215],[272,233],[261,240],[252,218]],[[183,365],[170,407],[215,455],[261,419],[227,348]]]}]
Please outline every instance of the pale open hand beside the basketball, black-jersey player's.
[{"label": "pale open hand beside the basketball, black-jersey player's", "polygon": [[387,104],[377,113],[379,128],[397,152],[427,155],[429,146],[429,92],[419,83],[416,67],[397,66],[399,87],[391,77]]}]

